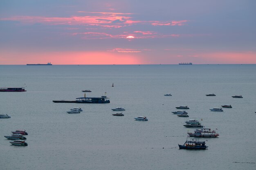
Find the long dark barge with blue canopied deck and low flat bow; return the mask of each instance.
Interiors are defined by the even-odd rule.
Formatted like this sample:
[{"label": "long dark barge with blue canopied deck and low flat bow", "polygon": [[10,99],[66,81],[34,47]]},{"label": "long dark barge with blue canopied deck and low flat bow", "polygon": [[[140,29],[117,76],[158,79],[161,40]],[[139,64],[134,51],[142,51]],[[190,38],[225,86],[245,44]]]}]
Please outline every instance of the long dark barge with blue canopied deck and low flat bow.
[{"label": "long dark barge with blue canopied deck and low flat bow", "polygon": [[54,103],[110,103],[107,96],[79,97],[76,100],[53,100]]}]

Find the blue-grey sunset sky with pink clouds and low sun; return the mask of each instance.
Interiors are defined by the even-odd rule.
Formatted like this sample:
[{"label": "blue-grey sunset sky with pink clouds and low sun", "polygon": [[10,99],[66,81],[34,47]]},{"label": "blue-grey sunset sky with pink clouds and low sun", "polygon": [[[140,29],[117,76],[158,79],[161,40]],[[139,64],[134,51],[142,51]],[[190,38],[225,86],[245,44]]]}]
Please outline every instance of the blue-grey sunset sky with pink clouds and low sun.
[{"label": "blue-grey sunset sky with pink clouds and low sun", "polygon": [[0,0],[0,65],[256,64],[256,0]]}]

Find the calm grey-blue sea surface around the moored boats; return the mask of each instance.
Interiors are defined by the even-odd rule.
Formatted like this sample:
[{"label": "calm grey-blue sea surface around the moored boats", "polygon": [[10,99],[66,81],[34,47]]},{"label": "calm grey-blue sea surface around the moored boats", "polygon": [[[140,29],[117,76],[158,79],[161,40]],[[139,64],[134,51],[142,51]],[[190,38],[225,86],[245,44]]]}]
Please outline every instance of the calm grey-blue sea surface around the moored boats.
[{"label": "calm grey-blue sea surface around the moored boats", "polygon": [[[114,87],[112,87],[114,83]],[[0,65],[1,170],[255,170],[256,65]],[[54,103],[106,95],[109,104]],[[171,93],[172,96],[164,96]],[[215,97],[206,94],[214,93]],[[242,95],[243,98],[232,98]],[[231,104],[223,112],[209,109]],[[174,115],[188,106],[189,117]],[[80,114],[67,114],[80,107]],[[123,117],[111,108],[124,107]],[[148,121],[135,121],[146,116]],[[180,150],[198,119],[219,138]],[[25,129],[28,146],[4,136]],[[189,138],[188,138],[189,139]]]}]

